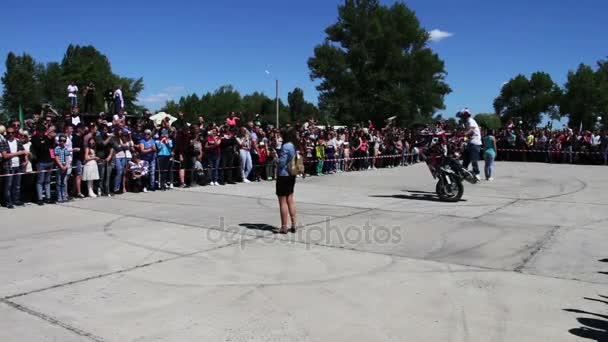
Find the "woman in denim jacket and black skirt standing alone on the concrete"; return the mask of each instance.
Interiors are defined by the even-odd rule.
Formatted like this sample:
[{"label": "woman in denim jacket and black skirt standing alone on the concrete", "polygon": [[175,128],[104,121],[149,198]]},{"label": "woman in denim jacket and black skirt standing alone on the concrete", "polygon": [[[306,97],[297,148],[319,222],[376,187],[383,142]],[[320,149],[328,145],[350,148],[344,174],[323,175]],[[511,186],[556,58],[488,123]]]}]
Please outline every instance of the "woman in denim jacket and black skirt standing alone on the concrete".
[{"label": "woman in denim jacket and black skirt standing alone on the concrete", "polygon": [[[298,141],[298,133],[295,129],[290,128],[285,133],[283,139],[277,164],[276,193],[281,212],[281,229],[279,233],[287,234],[288,232],[296,232],[296,202],[293,197],[296,176],[289,174],[289,162],[296,156],[295,143]],[[287,226],[288,215],[291,217],[291,229]]]}]

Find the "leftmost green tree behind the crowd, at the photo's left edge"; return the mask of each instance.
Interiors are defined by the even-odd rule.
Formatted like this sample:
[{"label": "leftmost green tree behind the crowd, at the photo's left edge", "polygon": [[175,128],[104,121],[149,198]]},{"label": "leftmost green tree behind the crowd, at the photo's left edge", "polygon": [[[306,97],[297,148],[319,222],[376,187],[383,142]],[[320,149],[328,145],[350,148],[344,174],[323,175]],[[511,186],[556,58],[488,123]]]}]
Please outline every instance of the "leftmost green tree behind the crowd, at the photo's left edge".
[{"label": "leftmost green tree behind the crowd, at the photo's left edge", "polygon": [[32,56],[26,53],[17,56],[12,52],[7,55],[2,76],[2,106],[9,115],[16,114],[20,105],[29,111],[40,108],[39,71]]}]

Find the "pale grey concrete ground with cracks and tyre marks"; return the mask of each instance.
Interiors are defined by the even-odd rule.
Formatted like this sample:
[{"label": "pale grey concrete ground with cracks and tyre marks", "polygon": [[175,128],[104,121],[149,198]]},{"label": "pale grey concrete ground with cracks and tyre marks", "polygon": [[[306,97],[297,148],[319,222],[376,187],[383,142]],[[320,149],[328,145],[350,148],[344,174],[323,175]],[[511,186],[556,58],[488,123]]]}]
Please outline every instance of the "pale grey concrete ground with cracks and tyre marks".
[{"label": "pale grey concrete ground with cracks and tyre marks", "polygon": [[287,236],[273,183],[1,210],[0,341],[606,340],[607,175],[312,177]]}]

